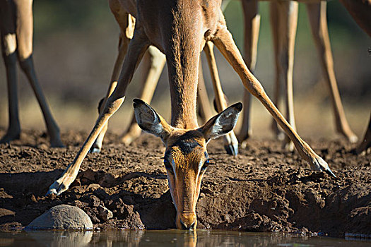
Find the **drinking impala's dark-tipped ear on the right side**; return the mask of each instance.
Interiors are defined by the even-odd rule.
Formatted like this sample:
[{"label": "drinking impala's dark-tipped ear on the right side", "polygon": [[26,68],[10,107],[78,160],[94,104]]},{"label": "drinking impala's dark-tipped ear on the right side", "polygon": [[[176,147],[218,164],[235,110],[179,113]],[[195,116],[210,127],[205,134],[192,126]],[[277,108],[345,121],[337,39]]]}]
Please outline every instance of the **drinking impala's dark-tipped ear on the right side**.
[{"label": "drinking impala's dark-tipped ear on the right side", "polygon": [[236,126],[241,110],[241,103],[232,104],[223,112],[220,112],[220,114],[208,120],[204,126],[200,128],[200,131],[204,133],[206,142],[232,131]]}]

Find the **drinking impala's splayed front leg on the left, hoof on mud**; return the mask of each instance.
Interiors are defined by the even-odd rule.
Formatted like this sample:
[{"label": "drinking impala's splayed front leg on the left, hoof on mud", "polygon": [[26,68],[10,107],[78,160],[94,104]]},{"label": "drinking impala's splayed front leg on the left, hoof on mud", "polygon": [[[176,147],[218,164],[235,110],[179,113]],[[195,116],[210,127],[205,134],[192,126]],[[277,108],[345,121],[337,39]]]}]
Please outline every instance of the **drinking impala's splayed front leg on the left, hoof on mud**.
[{"label": "drinking impala's splayed front leg on the left, hoof on mud", "polygon": [[103,126],[105,126],[112,114],[114,114],[114,112],[119,109],[122,102],[124,102],[126,88],[133,77],[133,73],[136,69],[136,66],[139,64],[143,53],[146,52],[148,45],[148,39],[144,32],[141,30],[141,28],[136,28],[133,40],[131,40],[129,44],[129,49],[125,56],[124,64],[122,65],[122,72],[119,76],[117,87],[105,103],[105,107],[98,117],[98,120],[95,122],[93,130],[90,132],[88,139],[86,139],[75,159],[73,159],[73,162],[69,165],[69,167],[67,167],[61,177],[49,187],[47,194],[54,193],[59,195],[60,193],[66,191],[70,184],[76,179],[81,163],[88,154],[88,151],[93,145],[95,138],[98,137]]}]

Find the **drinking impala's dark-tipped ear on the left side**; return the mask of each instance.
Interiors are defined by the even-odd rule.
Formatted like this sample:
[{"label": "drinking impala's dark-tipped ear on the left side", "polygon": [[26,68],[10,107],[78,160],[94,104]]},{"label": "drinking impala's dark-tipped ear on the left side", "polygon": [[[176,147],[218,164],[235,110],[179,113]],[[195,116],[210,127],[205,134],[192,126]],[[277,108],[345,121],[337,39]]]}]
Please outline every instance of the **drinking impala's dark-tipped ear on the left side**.
[{"label": "drinking impala's dark-tipped ear on the left side", "polygon": [[134,114],[136,122],[143,131],[151,133],[161,139],[167,138],[171,131],[171,126],[166,123],[162,116],[143,100],[133,100]]}]

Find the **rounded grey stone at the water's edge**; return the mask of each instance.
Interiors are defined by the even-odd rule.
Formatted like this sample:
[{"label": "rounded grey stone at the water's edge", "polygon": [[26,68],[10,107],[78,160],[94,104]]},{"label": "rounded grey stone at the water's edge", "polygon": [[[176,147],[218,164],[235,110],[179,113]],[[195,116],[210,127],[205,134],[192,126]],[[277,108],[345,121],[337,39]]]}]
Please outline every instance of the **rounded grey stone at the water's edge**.
[{"label": "rounded grey stone at the water's edge", "polygon": [[71,205],[57,205],[33,220],[25,230],[39,229],[93,229],[86,212]]}]

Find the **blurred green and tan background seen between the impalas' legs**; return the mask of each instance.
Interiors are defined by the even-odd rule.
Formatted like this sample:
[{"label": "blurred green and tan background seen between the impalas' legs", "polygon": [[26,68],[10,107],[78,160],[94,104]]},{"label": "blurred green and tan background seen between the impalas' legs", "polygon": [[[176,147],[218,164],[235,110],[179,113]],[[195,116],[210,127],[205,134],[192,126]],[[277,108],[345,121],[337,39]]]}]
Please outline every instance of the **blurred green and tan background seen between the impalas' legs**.
[{"label": "blurred green and tan background seen between the impalas' legs", "polygon": [[[334,117],[329,94],[322,79],[317,50],[307,22],[305,4],[300,4],[294,65],[295,115],[298,132],[304,136],[334,135]],[[346,116],[356,134],[365,131],[371,106],[371,39],[351,19],[338,1],[327,4],[329,33],[334,66]],[[34,60],[37,76],[61,131],[90,131],[97,116],[97,105],[105,95],[117,55],[119,28],[107,1],[35,0]],[[259,4],[261,29],[255,75],[266,92],[273,95],[273,48],[269,25],[269,3]],[[242,8],[232,0],[225,10],[228,27],[242,51]],[[242,84],[237,74],[217,52],[220,79],[230,104],[242,100]],[[206,59],[203,61],[208,95],[213,99]],[[140,69],[140,68],[139,68]],[[0,63],[0,128],[8,124],[6,76]],[[131,100],[141,87],[134,76],[126,101],[112,117],[110,130],[122,133],[131,118]],[[42,114],[30,89],[19,73],[20,121],[22,128],[45,129]],[[158,93],[160,92],[160,93]],[[153,107],[170,116],[167,70],[163,71],[153,98]],[[271,135],[269,113],[253,102],[254,136]]]}]

